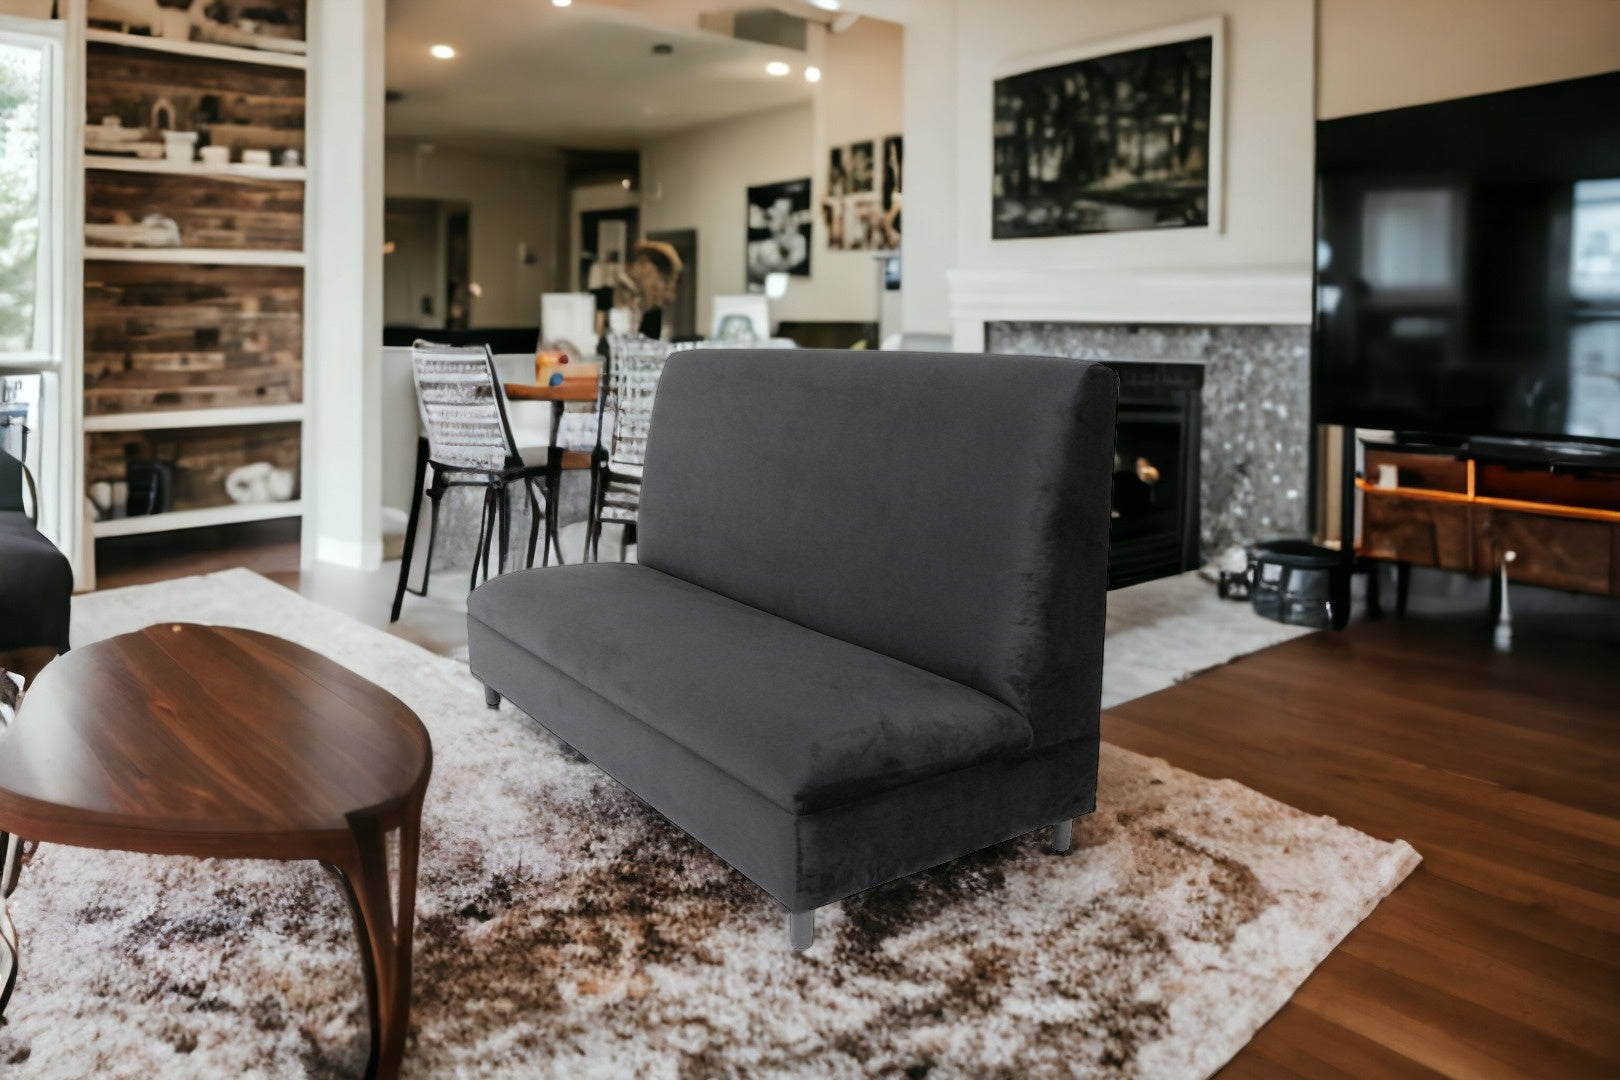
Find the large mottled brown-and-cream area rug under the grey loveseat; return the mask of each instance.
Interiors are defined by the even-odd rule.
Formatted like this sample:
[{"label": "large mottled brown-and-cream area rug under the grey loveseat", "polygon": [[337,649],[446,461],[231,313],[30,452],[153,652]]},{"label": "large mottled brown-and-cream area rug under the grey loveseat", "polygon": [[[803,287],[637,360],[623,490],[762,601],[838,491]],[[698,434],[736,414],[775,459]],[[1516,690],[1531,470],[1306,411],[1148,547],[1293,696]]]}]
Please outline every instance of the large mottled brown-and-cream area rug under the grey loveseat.
[{"label": "large mottled brown-and-cream area rug under the grey loveseat", "polygon": [[[405,699],[434,740],[411,1077],[1204,1077],[1418,863],[1103,746],[1068,855],[1040,836],[781,908],[465,665],[246,572],[76,601],[99,635],[235,623]],[[24,706],[26,708],[26,706]],[[11,900],[6,1077],[352,1077],[348,912],[311,865],[47,845]]]}]

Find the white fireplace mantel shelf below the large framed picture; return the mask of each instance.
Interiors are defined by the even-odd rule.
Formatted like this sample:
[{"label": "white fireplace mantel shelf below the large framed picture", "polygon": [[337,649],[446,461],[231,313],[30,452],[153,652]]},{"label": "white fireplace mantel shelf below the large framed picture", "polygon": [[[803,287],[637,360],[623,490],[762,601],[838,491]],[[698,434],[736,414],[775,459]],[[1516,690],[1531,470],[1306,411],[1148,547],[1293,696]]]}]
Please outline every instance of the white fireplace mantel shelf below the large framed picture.
[{"label": "white fireplace mantel shelf below the large framed picture", "polygon": [[1307,269],[957,269],[948,277],[959,351],[983,351],[987,322],[1311,322]]}]

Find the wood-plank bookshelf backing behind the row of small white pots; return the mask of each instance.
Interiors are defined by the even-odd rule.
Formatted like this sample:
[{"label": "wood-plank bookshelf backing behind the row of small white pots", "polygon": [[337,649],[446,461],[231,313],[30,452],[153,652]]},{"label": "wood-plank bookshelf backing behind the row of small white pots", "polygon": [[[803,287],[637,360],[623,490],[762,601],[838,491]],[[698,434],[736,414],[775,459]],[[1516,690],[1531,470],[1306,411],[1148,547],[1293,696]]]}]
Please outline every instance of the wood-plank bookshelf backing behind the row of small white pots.
[{"label": "wood-plank bookshelf backing behind the row of small white pots", "polygon": [[89,123],[118,117],[126,128],[156,134],[152,107],[167,100],[175,131],[199,131],[199,144],[279,151],[305,144],[305,73],[228,60],[89,45],[84,115]]}]

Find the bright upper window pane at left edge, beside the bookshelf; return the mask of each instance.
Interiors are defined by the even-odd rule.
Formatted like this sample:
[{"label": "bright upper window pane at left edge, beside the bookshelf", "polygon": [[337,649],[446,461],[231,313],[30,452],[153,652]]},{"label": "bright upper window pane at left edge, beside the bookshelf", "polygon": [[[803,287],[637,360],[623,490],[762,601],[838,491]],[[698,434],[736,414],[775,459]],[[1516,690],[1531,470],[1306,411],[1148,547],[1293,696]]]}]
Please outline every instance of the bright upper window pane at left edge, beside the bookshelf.
[{"label": "bright upper window pane at left edge, beside the bookshelf", "polygon": [[0,364],[58,358],[58,50],[53,24],[0,19]]}]

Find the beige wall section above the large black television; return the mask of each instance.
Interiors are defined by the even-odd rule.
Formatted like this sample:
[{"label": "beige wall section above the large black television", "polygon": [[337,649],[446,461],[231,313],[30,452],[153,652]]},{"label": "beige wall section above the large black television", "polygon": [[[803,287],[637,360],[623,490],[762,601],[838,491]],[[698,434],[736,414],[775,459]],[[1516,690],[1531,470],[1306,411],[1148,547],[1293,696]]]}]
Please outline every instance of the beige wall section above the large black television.
[{"label": "beige wall section above the large black television", "polygon": [[1615,0],[1320,0],[1322,118],[1620,68]]}]

